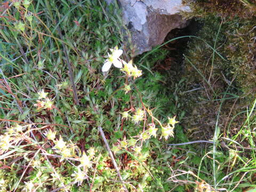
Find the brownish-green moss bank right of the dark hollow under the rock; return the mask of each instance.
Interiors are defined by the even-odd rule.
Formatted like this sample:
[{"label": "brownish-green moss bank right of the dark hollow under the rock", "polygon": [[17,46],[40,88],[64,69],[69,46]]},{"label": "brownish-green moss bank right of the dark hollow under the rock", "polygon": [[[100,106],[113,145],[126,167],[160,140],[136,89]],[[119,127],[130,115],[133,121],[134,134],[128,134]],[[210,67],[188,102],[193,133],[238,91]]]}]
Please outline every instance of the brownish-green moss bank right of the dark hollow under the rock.
[{"label": "brownish-green moss bank right of the dark hollow under the rock", "polygon": [[[224,134],[231,117],[246,110],[246,106],[251,106],[255,99],[256,2],[246,1],[247,4],[242,0],[193,2],[190,3],[193,11],[183,15],[187,18],[196,17],[201,23],[202,28],[196,35],[201,39],[191,38],[188,43],[185,55],[189,61],[185,59],[183,76],[188,79],[186,91],[197,88],[199,90],[183,95],[183,98],[186,98],[184,101],[186,110],[191,114],[187,115],[184,122],[190,130],[204,130],[204,138],[211,138],[215,129],[216,113],[226,92],[228,93],[226,98],[231,98],[231,94],[237,96],[223,102],[219,125],[223,128]],[[207,45],[213,47],[215,39],[215,49],[223,59],[217,54],[213,59],[213,51]],[[209,81],[212,89],[202,75]],[[230,82],[231,86],[229,86]],[[232,120],[233,128],[229,133],[240,129],[245,118],[240,115]],[[193,134],[189,132],[189,135]],[[197,134],[196,137],[202,137],[202,134]]]}]

